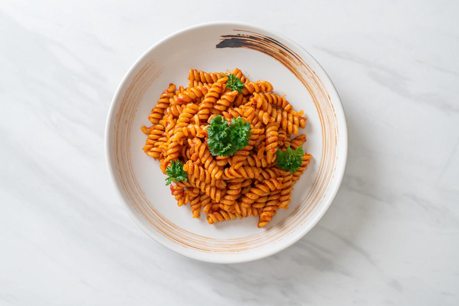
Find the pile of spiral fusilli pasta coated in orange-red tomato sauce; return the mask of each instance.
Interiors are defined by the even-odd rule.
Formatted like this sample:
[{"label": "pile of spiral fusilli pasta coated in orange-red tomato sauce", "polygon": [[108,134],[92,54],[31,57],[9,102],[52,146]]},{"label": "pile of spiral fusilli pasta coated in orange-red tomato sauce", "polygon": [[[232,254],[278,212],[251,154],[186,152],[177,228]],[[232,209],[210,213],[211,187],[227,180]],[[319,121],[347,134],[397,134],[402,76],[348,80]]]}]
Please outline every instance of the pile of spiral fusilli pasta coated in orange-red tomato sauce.
[{"label": "pile of spiral fusilli pasta coated in orange-red tomato sauce", "polygon": [[[278,209],[288,209],[293,185],[306,170],[310,154],[304,153],[294,173],[276,167],[276,151],[297,149],[306,141],[303,111],[294,111],[266,81],[251,82],[235,69],[244,84],[242,92],[226,88],[225,73],[190,69],[188,87],[169,84],[142,127],[148,135],[145,153],[160,161],[165,173],[171,161],[183,162],[187,180],[170,186],[179,206],[190,203],[193,217],[207,214],[209,224],[248,216],[265,226]],[[207,146],[207,126],[221,115],[228,121],[243,117],[250,122],[249,143],[233,156],[212,156]]]}]

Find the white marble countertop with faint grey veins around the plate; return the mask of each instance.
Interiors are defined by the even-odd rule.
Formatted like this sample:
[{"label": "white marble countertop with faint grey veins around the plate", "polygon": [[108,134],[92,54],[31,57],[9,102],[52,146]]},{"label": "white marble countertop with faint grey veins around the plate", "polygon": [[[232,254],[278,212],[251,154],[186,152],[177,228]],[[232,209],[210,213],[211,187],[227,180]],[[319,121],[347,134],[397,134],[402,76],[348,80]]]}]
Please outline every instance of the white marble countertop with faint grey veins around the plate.
[{"label": "white marble countertop with faint grey veins around the plate", "polygon": [[[0,305],[459,305],[457,1],[1,2]],[[149,238],[104,157],[130,65],[216,20],[308,50],[349,131],[325,217],[244,264],[191,260]]]}]

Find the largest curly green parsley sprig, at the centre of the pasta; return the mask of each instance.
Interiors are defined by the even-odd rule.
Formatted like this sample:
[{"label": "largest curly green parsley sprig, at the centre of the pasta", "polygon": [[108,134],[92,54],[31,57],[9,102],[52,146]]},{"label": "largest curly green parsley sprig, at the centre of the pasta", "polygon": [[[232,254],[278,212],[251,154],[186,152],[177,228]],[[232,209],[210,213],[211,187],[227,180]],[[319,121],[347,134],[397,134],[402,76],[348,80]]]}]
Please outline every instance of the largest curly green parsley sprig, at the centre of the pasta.
[{"label": "largest curly green parsley sprig, at the centre of the pasta", "polygon": [[249,144],[250,123],[238,117],[227,122],[222,116],[215,116],[207,127],[207,145],[213,156],[231,156]]}]

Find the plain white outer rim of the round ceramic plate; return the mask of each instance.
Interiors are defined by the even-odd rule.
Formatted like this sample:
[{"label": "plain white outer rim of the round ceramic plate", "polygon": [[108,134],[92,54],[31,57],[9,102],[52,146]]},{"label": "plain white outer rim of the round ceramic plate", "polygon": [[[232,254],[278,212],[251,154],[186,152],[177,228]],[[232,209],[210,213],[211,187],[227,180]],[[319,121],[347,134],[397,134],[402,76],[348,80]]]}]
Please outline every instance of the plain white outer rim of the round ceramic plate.
[{"label": "plain white outer rim of the round ceramic plate", "polygon": [[[126,200],[124,199],[124,195],[122,194],[122,192],[121,192],[121,190],[120,190],[120,188],[118,186],[118,182],[116,180],[116,174],[117,173],[115,172],[115,170],[112,167],[112,156],[110,155],[111,154],[110,139],[112,139],[112,137],[111,137],[112,136],[112,130],[110,129],[110,127],[111,127],[111,123],[112,123],[113,113],[115,111],[115,104],[116,104],[116,101],[119,99],[119,96],[121,95],[121,89],[122,89],[123,85],[126,83],[127,79],[131,75],[131,73],[133,73],[134,67],[136,67],[137,64],[140,61],[143,61],[145,59],[145,57],[151,52],[151,50],[155,49],[158,45],[161,45],[164,41],[166,41],[168,39],[171,39],[174,36],[179,35],[180,33],[184,33],[184,32],[196,29],[196,28],[203,28],[203,27],[209,27],[209,26],[214,26],[214,25],[229,25],[229,26],[242,26],[242,27],[248,27],[248,28],[255,28],[257,30],[260,30],[261,32],[269,33],[269,34],[272,34],[273,36],[279,36],[282,39],[285,39],[289,44],[299,48],[302,51],[304,51],[310,57],[311,61],[313,61],[314,64],[317,65],[317,67],[321,70],[321,72],[324,73],[324,76],[326,78],[322,78],[321,77],[321,80],[322,81],[327,81],[329,83],[328,84],[329,86],[326,87],[327,90],[329,90],[330,92],[332,92],[333,95],[336,96],[336,100],[333,101],[333,108],[334,108],[334,110],[336,112],[337,117],[341,117],[342,118],[342,127],[340,126],[340,138],[342,137],[343,141],[342,141],[342,143],[340,142],[341,149],[339,151],[339,153],[341,154],[342,159],[341,159],[341,165],[337,165],[337,167],[342,167],[342,171],[336,173],[337,174],[336,187],[334,188],[334,190],[331,193],[330,200],[324,205],[322,211],[320,211],[320,213],[317,214],[314,217],[314,219],[309,223],[309,225],[307,227],[301,229],[301,231],[295,237],[293,237],[292,239],[286,241],[280,247],[273,247],[271,250],[267,249],[267,251],[265,251],[265,252],[255,253],[254,255],[252,255],[251,253],[246,253],[245,254],[246,256],[245,256],[245,258],[243,260],[241,260],[237,256],[235,258],[224,256],[224,258],[226,258],[225,260],[223,260],[223,258],[222,258],[222,260],[218,260],[218,258],[221,258],[221,257],[218,257],[218,256],[198,257],[198,256],[195,256],[194,253],[187,253],[185,251],[185,249],[180,245],[177,245],[178,248],[174,249],[172,247],[169,247],[168,245],[163,244],[160,241],[160,239],[157,239],[157,237],[153,237],[149,233],[149,229],[147,229],[146,226],[143,223],[138,222],[138,220],[137,220],[138,216],[135,214],[135,211],[133,211],[133,207],[129,203],[127,203]],[[337,102],[339,102],[339,103],[337,103]],[[342,131],[341,131],[341,128],[342,128]],[[329,210],[331,204],[334,202],[334,200],[336,198],[336,195],[337,195],[337,193],[338,193],[338,191],[339,191],[339,189],[341,187],[341,183],[342,183],[342,179],[344,177],[344,173],[346,172],[347,154],[348,154],[347,120],[346,120],[346,115],[345,115],[344,108],[343,108],[343,105],[342,105],[342,101],[341,101],[341,98],[340,98],[340,96],[339,96],[339,94],[338,94],[338,92],[336,90],[336,87],[335,87],[334,83],[330,79],[330,76],[325,71],[325,69],[320,65],[320,63],[306,49],[304,49],[301,45],[297,44],[295,41],[289,39],[288,37],[286,37],[283,34],[278,33],[276,31],[273,31],[273,30],[271,30],[269,28],[263,28],[263,27],[258,26],[256,24],[253,24],[253,23],[236,22],[236,21],[204,22],[204,23],[199,23],[199,24],[196,24],[196,25],[193,25],[193,26],[190,26],[190,27],[183,28],[183,29],[181,29],[179,31],[176,31],[174,33],[171,33],[171,34],[167,35],[163,39],[160,39],[159,41],[157,41],[157,43],[153,44],[150,48],[148,48],[145,52],[143,52],[142,55],[136,61],[134,61],[134,63],[129,67],[128,71],[124,74],[123,78],[121,79],[120,83],[118,84],[118,88],[116,89],[115,94],[113,95],[113,98],[112,98],[112,101],[110,103],[110,107],[109,107],[109,110],[108,110],[108,113],[107,113],[107,118],[106,118],[105,133],[104,133],[104,143],[105,143],[106,166],[107,166],[107,169],[108,169],[108,173],[109,173],[111,182],[112,182],[114,188],[116,189],[116,194],[118,196],[118,200],[122,203],[122,205],[124,206],[125,211],[128,213],[129,217],[134,221],[134,223],[137,224],[137,226],[140,229],[142,229],[142,231],[144,231],[149,237],[151,237],[158,244],[162,245],[163,247],[167,248],[168,250],[171,250],[174,253],[177,253],[179,255],[182,255],[182,256],[185,256],[185,257],[188,257],[188,258],[193,258],[193,259],[196,259],[196,260],[199,260],[199,261],[212,262],[212,263],[237,263],[237,262],[254,261],[254,260],[257,260],[257,259],[265,258],[265,257],[268,257],[268,256],[272,256],[275,253],[280,252],[281,250],[285,250],[289,246],[295,244],[299,239],[304,237],[304,235],[306,235],[317,223],[319,223],[319,221],[322,219],[322,217],[324,217],[325,213]],[[224,254],[224,255],[228,255],[228,254]]]}]

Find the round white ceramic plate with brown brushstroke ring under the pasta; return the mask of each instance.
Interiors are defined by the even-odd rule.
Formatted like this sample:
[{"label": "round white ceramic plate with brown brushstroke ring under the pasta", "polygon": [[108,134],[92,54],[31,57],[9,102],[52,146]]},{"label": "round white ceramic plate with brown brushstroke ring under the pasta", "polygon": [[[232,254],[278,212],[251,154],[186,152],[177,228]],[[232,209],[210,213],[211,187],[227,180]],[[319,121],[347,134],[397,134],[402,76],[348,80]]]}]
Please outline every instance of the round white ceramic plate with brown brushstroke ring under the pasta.
[{"label": "round white ceramic plate with brown brushstroke ring under the pasta", "polygon": [[[313,155],[294,186],[288,210],[268,226],[247,217],[209,225],[191,217],[164,184],[159,161],[141,149],[140,127],[169,83],[188,84],[190,68],[207,72],[240,68],[251,80],[267,80],[304,110]],[[106,159],[119,198],[135,223],[160,244],[202,261],[230,263],[272,255],[319,222],[341,184],[347,158],[347,128],[340,98],[319,63],[279,33],[241,22],[211,22],[174,33],[147,50],[129,69],[113,97],[106,123]]]}]

